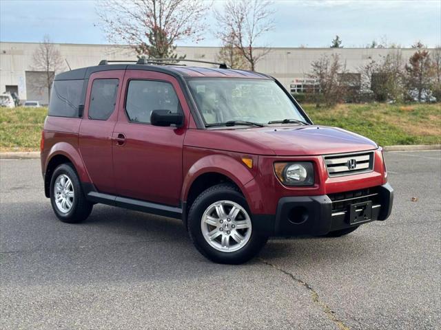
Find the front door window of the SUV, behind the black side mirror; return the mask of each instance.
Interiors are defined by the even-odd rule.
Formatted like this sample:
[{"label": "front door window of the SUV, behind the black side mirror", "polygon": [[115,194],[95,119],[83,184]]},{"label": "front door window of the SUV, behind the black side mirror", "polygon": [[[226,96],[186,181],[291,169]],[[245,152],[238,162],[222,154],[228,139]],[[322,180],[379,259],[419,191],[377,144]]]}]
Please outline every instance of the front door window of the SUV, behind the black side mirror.
[{"label": "front door window of the SUV, behind the black side mirror", "polygon": [[150,123],[153,110],[181,111],[172,84],[154,80],[130,80],[125,110],[131,122]]}]

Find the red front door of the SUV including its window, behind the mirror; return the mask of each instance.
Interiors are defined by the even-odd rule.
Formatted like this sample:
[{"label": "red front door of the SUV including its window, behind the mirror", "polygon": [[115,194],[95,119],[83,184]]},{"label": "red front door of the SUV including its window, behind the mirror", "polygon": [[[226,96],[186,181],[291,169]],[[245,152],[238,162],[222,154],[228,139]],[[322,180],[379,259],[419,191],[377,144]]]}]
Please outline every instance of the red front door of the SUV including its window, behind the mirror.
[{"label": "red front door of the SUV including its window, behind the mirror", "polygon": [[[116,192],[123,197],[178,206],[183,184],[183,140],[189,109],[176,78],[127,70],[113,133]],[[153,110],[182,111],[181,128],[150,124]]]}]

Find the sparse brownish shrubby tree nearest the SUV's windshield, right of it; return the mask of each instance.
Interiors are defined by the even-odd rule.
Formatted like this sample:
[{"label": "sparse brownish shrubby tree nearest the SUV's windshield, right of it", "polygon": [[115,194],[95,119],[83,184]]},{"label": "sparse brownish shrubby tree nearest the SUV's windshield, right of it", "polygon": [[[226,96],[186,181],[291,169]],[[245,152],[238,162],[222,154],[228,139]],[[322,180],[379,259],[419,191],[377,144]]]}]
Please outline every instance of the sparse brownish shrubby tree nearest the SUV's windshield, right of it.
[{"label": "sparse brownish shrubby tree nearest the SUV's windshield, right of it", "polygon": [[[345,96],[346,86],[343,77],[346,74],[346,65],[340,62],[338,54],[322,55],[311,63],[309,78],[317,81],[320,87],[322,101],[327,105],[335,104]],[[317,102],[320,103],[320,100]]]}]

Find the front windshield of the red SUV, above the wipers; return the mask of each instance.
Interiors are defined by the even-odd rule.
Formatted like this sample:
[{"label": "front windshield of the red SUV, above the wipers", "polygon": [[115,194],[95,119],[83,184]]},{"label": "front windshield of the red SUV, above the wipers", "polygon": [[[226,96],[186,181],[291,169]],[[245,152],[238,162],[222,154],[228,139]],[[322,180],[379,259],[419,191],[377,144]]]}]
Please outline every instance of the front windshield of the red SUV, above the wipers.
[{"label": "front windshield of the red SUV, above the wipers", "polygon": [[229,121],[307,121],[273,80],[194,78],[188,84],[208,125]]}]

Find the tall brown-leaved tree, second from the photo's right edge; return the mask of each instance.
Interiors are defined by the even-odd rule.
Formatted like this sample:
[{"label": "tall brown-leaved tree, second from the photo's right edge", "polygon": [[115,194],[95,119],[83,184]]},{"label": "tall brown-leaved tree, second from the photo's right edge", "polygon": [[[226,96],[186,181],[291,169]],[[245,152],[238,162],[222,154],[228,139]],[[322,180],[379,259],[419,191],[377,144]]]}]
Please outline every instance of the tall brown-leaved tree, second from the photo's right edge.
[{"label": "tall brown-leaved tree, second from the photo's right edge", "polygon": [[424,98],[424,94],[429,91],[432,78],[431,58],[427,48],[418,41],[412,48],[416,52],[409,58],[405,69],[407,73],[407,87],[410,91],[416,90],[418,93],[418,102]]}]

